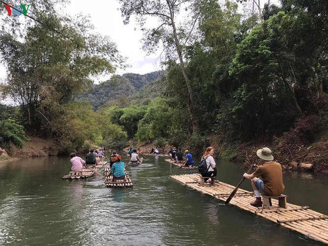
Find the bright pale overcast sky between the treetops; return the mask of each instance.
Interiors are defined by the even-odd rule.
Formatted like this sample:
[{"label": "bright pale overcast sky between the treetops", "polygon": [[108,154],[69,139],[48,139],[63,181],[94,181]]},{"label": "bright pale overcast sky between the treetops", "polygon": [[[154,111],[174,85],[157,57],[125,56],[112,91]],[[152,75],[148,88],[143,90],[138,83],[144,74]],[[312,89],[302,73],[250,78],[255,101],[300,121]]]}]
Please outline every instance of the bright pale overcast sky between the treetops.
[{"label": "bright pale overcast sky between the treetops", "polygon": [[[267,0],[261,0],[261,5]],[[278,0],[271,0],[271,3],[277,3]],[[123,19],[119,10],[119,2],[117,0],[97,0],[94,4],[88,0],[71,0],[71,4],[66,6],[65,12],[75,15],[82,13],[89,15],[91,22],[95,27],[95,32],[102,35],[109,35],[117,44],[120,54],[127,57],[127,64],[130,67],[125,70],[117,70],[116,74],[127,72],[145,74],[157,70],[160,67],[160,51],[157,54],[147,56],[146,52],[142,51],[142,32],[131,18],[131,23],[123,25]],[[22,17],[20,17],[22,18]],[[26,17],[23,17],[26,18]],[[135,30],[136,29],[136,30]],[[6,70],[0,64],[0,80],[5,78]],[[95,79],[95,83],[105,81],[110,78],[110,75]]]}]

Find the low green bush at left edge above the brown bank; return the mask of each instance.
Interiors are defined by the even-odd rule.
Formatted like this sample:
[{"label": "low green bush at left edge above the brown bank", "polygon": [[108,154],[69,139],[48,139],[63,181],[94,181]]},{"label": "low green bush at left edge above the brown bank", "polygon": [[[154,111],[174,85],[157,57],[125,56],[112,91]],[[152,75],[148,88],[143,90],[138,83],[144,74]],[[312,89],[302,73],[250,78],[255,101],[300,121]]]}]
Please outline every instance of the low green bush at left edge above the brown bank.
[{"label": "low green bush at left edge above the brown bank", "polygon": [[19,148],[23,148],[24,141],[29,140],[25,136],[24,127],[13,119],[5,119],[0,121],[0,145],[8,148],[13,144]]}]

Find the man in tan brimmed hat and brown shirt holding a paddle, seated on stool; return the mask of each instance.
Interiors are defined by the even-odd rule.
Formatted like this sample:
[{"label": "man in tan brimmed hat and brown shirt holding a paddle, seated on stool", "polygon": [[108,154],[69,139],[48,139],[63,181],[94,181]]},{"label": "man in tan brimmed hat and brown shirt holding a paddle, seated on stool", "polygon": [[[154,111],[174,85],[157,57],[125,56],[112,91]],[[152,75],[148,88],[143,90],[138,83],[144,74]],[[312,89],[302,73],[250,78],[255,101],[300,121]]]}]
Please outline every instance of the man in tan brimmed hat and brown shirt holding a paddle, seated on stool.
[{"label": "man in tan brimmed hat and brown shirt holding a paddle, seated on stool", "polygon": [[[251,180],[255,192],[256,200],[250,205],[262,207],[260,192],[263,195],[279,196],[284,191],[285,186],[282,182],[282,169],[278,162],[272,161],[274,158],[269,148],[263,148],[256,152],[257,156],[265,160],[265,163],[259,166],[254,173],[244,173],[243,177]],[[258,177],[262,177],[263,181]]]}]

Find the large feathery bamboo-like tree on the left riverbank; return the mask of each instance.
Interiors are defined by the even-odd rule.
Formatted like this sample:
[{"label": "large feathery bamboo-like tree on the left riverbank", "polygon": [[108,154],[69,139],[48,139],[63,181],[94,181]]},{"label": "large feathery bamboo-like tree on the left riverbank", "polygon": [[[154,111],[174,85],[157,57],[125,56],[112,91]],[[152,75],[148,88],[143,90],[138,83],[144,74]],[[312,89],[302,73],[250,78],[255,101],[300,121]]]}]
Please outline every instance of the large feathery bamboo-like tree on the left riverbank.
[{"label": "large feathery bamboo-like tree on the left riverbank", "polygon": [[38,20],[23,42],[0,35],[0,58],[8,70],[2,88],[20,104],[25,126],[49,135],[63,105],[88,88],[89,76],[113,73],[123,59],[109,37],[90,33],[88,19],[41,14]]}]

